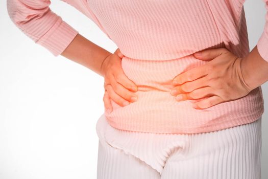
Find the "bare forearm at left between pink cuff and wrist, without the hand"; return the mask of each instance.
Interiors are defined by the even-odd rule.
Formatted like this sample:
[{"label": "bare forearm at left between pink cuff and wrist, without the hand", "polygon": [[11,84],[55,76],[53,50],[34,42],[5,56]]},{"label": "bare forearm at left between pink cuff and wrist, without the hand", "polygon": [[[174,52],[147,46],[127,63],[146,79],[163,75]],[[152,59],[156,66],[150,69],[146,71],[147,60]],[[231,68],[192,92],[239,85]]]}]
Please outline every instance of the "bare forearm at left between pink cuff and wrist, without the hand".
[{"label": "bare forearm at left between pink cuff and wrist, without the hand", "polygon": [[62,56],[86,66],[101,76],[103,76],[101,73],[102,62],[110,54],[110,52],[86,39],[81,34],[78,34],[61,53]]}]

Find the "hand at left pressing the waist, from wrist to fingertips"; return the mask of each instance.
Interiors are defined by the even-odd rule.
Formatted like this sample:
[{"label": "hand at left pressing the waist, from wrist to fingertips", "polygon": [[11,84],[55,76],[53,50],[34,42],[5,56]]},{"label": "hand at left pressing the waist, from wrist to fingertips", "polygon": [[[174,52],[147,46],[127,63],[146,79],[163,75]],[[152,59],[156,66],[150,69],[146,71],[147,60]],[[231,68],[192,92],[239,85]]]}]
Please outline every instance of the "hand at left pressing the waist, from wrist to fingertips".
[{"label": "hand at left pressing the waist, from wrist to fingertips", "polygon": [[[126,106],[129,102],[135,102],[137,95],[136,84],[131,81],[121,68],[121,59],[124,55],[117,49],[113,54],[105,58],[102,64],[102,74],[104,74],[104,106],[108,113],[112,111],[111,99],[120,106]],[[131,90],[131,91],[129,91]],[[136,98],[136,99],[135,99]]]}]

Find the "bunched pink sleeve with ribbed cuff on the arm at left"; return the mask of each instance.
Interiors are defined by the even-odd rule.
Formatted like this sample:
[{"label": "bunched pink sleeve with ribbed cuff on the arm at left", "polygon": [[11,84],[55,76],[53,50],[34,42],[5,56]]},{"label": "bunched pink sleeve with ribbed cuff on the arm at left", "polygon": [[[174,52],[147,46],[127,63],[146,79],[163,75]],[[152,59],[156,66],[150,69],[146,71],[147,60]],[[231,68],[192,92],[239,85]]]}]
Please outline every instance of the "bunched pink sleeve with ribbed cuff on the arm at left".
[{"label": "bunched pink sleeve with ribbed cuff on the arm at left", "polygon": [[7,0],[13,23],[54,56],[60,55],[78,31],[49,8],[50,0]]}]

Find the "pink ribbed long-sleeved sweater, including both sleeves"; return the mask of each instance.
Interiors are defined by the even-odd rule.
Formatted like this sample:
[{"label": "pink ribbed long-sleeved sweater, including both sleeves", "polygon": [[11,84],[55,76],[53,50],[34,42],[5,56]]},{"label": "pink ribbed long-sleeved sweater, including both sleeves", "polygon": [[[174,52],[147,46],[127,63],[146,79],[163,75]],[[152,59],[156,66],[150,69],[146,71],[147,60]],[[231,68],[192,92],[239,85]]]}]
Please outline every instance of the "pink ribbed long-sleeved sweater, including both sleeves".
[{"label": "pink ribbed long-sleeved sweater, including both sleeves", "polygon": [[[225,47],[237,56],[249,53],[245,0],[65,0],[94,21],[125,55],[122,68],[138,86],[138,101],[121,107],[112,101],[105,113],[117,129],[198,133],[257,120],[264,112],[261,86],[247,96],[194,109],[191,100],[170,95],[172,79],[208,61],[193,53]],[[263,0],[268,11],[268,0]],[[49,0],[7,0],[15,25],[55,56],[78,31],[49,8]],[[268,62],[268,13],[257,48]]]}]

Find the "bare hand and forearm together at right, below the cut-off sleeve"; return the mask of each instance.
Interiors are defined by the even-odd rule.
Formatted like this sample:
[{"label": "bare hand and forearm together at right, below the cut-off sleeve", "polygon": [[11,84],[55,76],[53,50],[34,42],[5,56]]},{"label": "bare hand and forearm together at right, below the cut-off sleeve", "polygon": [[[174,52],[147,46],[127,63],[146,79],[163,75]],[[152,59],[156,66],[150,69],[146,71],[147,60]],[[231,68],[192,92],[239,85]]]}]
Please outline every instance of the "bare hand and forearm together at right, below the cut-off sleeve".
[{"label": "bare hand and forearm together at right, below the cut-off sleeve", "polygon": [[225,48],[208,49],[201,55],[193,55],[209,62],[177,75],[170,94],[176,96],[177,101],[196,100],[192,104],[196,109],[244,97],[268,80],[268,62],[259,55],[257,46],[245,58]]}]

